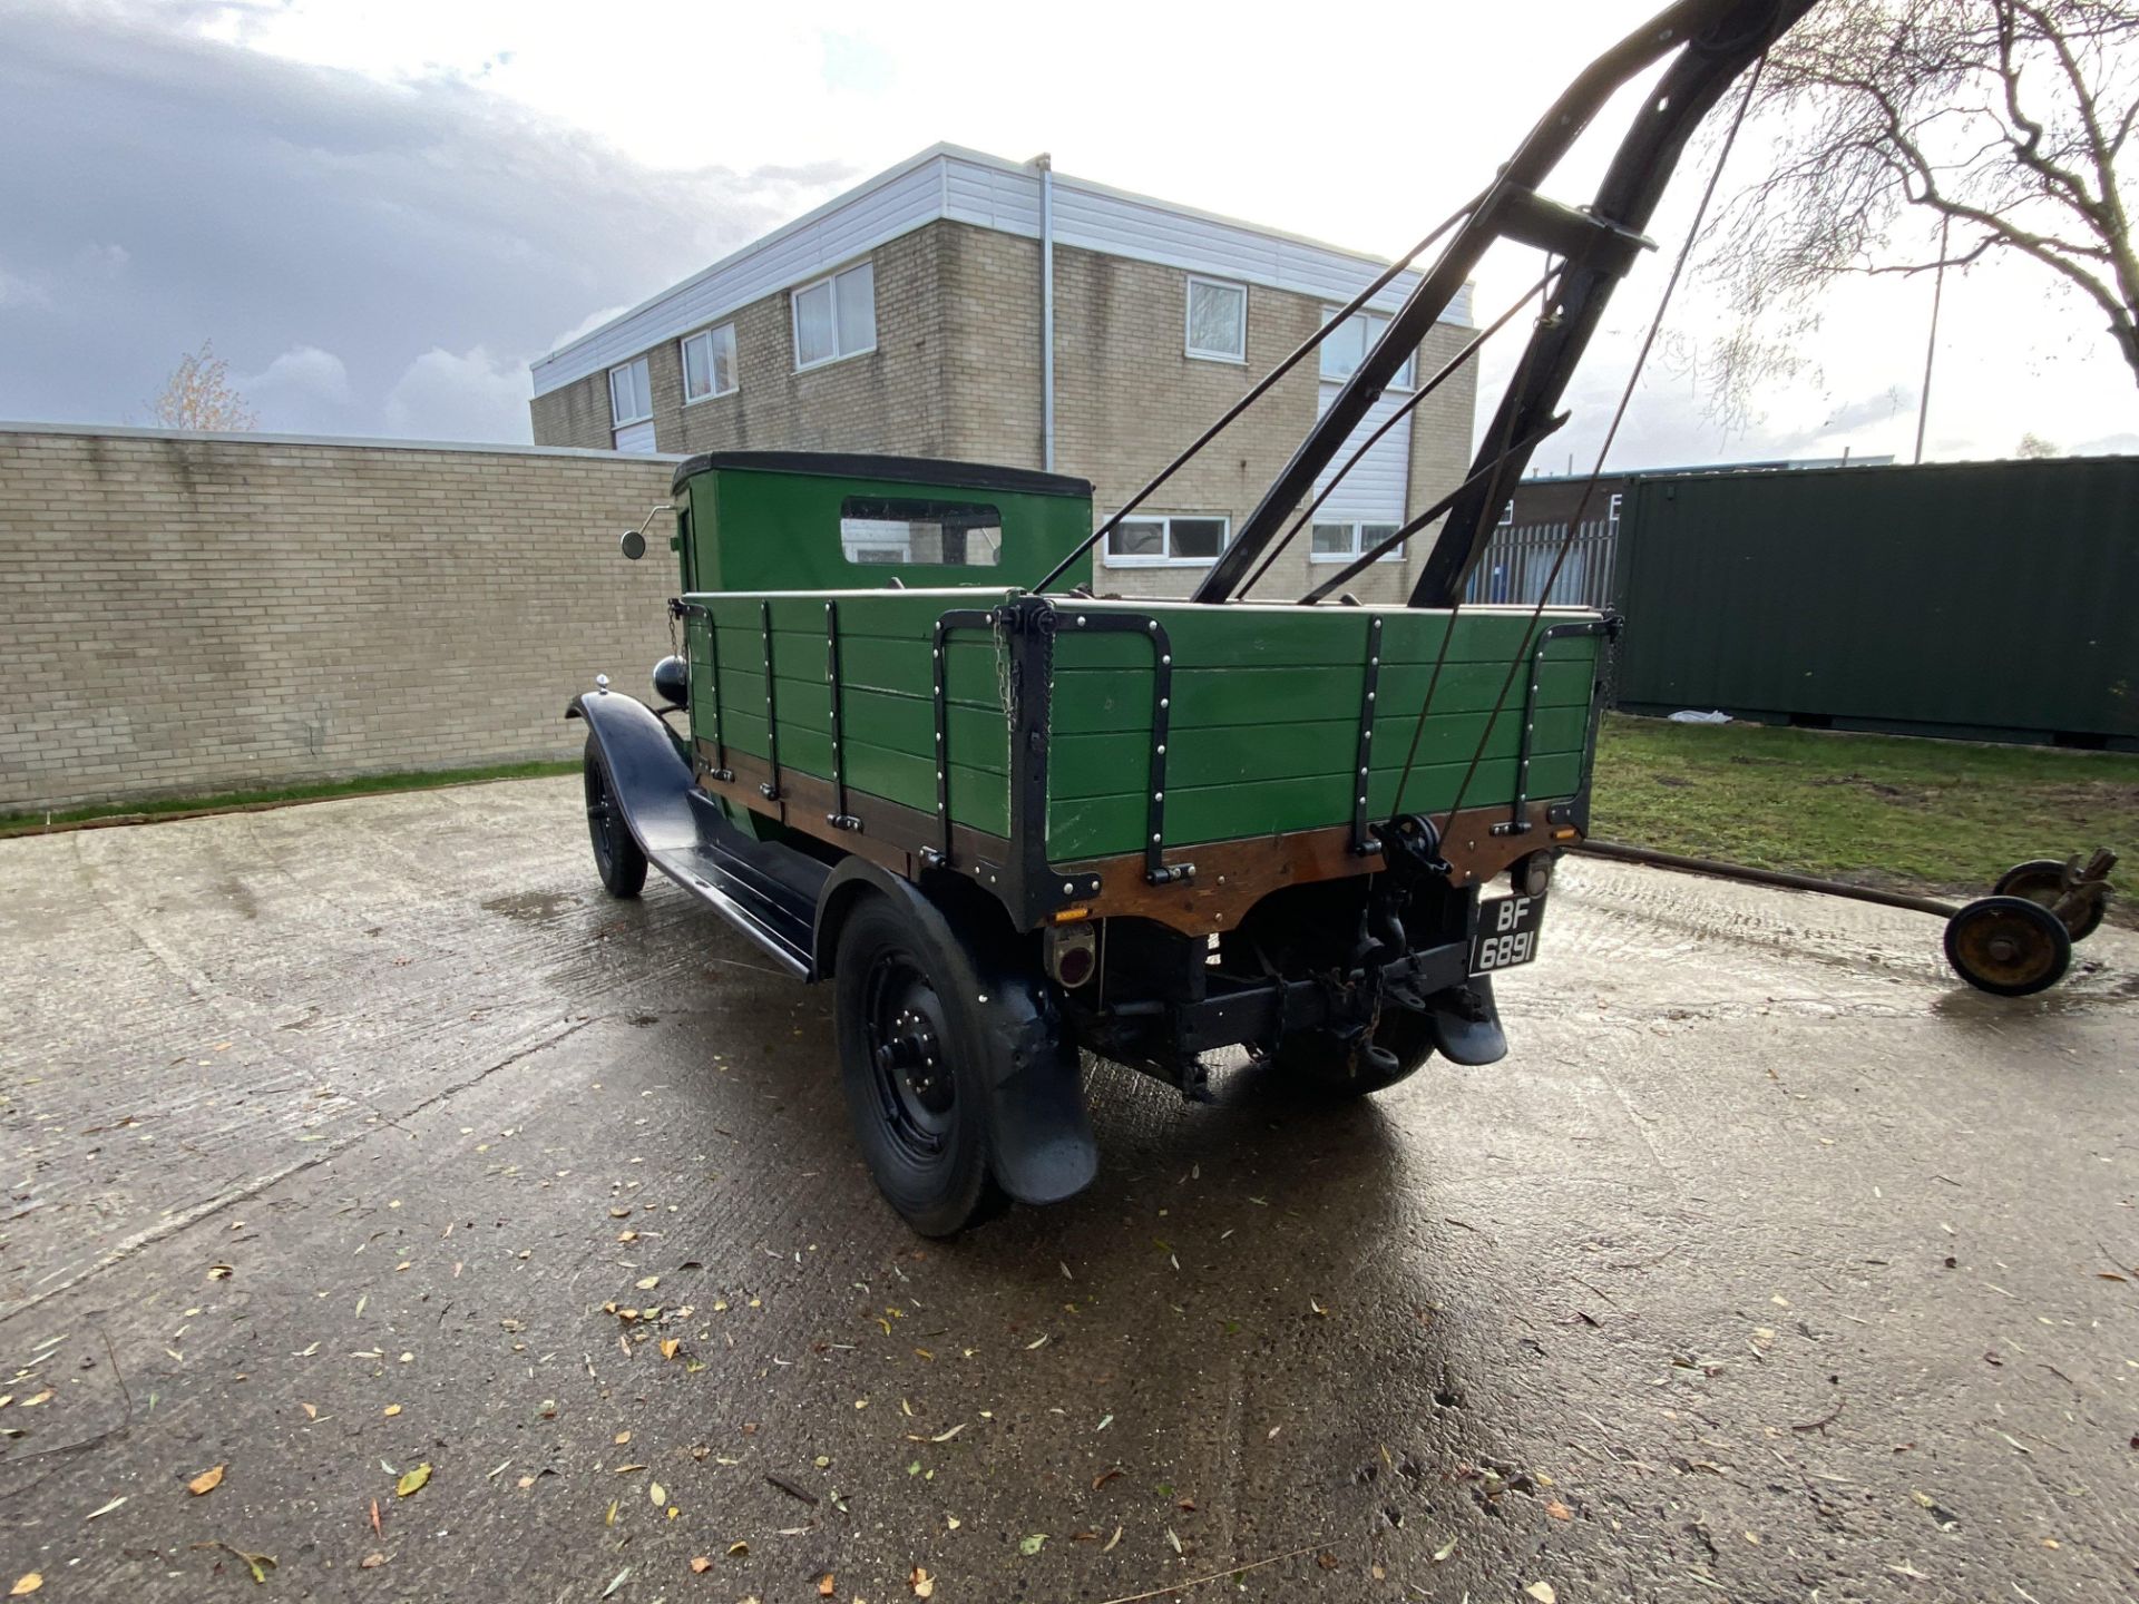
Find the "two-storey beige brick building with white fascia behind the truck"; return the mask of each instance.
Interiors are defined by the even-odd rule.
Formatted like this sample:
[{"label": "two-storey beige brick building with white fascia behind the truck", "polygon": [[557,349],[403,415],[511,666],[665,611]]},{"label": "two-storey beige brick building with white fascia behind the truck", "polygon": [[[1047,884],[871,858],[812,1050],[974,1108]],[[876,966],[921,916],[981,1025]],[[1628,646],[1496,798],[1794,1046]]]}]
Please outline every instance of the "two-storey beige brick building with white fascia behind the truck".
[{"label": "two-storey beige brick building with white fascia behind the truck", "polygon": [[[1384,267],[1044,158],[937,145],[537,361],[535,441],[1052,466],[1091,479],[1106,515]],[[1097,588],[1194,588],[1414,282],[1395,280],[1117,530]],[[1467,319],[1463,297],[1412,381],[1469,338]],[[1405,400],[1392,387],[1360,438]],[[1452,490],[1474,406],[1465,368],[1388,430],[1253,595],[1296,597]],[[1401,599],[1429,545],[1350,588]]]}]

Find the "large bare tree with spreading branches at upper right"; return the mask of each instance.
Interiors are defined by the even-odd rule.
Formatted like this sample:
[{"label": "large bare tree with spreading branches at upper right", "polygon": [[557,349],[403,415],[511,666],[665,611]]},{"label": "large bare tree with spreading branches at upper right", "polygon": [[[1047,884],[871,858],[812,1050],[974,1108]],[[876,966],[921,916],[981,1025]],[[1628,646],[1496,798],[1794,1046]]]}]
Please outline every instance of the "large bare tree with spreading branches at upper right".
[{"label": "large bare tree with spreading branches at upper right", "polygon": [[1703,359],[1726,421],[1801,366],[1837,278],[1991,255],[2083,295],[2139,383],[2139,0],[1827,0],[1775,45],[1756,111],[1775,160],[1703,261],[1739,321]]}]

